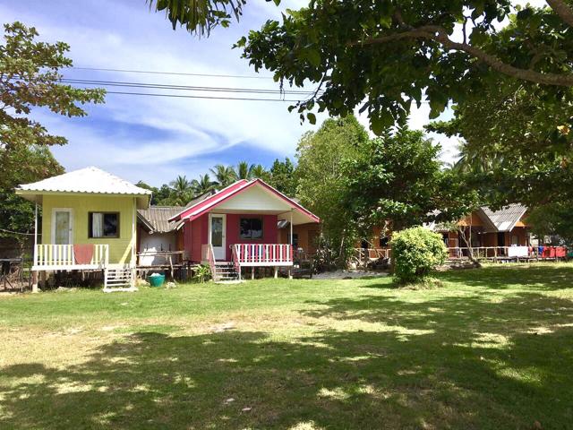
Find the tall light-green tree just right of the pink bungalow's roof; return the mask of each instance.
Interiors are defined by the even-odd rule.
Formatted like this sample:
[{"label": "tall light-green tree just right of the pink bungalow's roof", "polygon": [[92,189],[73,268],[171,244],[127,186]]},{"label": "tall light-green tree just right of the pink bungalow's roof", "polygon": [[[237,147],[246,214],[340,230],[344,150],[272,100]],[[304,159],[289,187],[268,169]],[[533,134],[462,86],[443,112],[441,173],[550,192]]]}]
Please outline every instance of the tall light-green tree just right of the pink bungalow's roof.
[{"label": "tall light-green tree just right of the pink bungalow's roof", "polygon": [[297,195],[321,218],[323,238],[338,265],[346,264],[356,240],[353,213],[343,204],[347,195],[343,160],[357,158],[365,142],[364,127],[355,116],[346,116],[327,119],[316,133],[305,133],[296,152]]}]

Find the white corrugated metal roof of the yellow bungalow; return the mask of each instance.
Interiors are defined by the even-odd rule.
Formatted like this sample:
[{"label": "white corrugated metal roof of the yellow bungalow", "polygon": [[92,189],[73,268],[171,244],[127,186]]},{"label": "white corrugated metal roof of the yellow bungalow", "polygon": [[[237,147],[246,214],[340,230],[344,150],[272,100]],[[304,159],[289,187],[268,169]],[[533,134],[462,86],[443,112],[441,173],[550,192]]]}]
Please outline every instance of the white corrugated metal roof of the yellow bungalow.
[{"label": "white corrugated metal roof of the yellow bungalow", "polygon": [[63,175],[48,177],[33,184],[20,185],[17,190],[38,193],[151,194],[150,190],[140,188],[121,177],[94,167],[81,168]]}]

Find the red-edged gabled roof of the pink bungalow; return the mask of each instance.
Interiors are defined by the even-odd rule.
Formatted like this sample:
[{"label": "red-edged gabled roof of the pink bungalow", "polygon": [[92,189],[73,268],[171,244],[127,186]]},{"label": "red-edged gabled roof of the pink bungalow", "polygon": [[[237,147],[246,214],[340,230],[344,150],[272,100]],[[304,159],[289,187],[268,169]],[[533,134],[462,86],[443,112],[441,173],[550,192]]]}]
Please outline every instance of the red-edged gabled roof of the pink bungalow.
[{"label": "red-edged gabled roof of the pink bungalow", "polygon": [[[321,219],[319,217],[317,217],[316,215],[314,215],[311,211],[306,210],[302,205],[300,205],[299,203],[295,202],[294,200],[286,197],[285,194],[280,193],[278,190],[276,190],[275,188],[273,188],[269,184],[265,183],[261,179],[254,179],[251,182],[248,182],[247,180],[242,179],[241,181],[235,182],[235,184],[229,185],[229,186],[227,186],[227,188],[224,188],[223,190],[219,191],[218,193],[213,194],[212,196],[203,200],[202,202],[198,202],[197,204],[194,204],[193,206],[185,209],[184,211],[175,215],[175,217],[172,217],[169,220],[173,221],[173,220],[180,220],[180,219],[189,219],[192,221],[193,219],[197,219],[202,214],[204,214],[205,212],[210,211],[211,209],[216,208],[220,203],[227,201],[227,199],[233,197],[236,193],[241,193],[244,190],[251,188],[253,185],[256,185],[256,184],[261,185],[263,188],[268,190],[270,193],[274,193],[280,199],[288,202],[289,204],[292,204],[296,210],[303,212],[305,215],[309,216],[314,222],[321,222]],[[193,213],[194,213],[194,215],[193,215]]]}]

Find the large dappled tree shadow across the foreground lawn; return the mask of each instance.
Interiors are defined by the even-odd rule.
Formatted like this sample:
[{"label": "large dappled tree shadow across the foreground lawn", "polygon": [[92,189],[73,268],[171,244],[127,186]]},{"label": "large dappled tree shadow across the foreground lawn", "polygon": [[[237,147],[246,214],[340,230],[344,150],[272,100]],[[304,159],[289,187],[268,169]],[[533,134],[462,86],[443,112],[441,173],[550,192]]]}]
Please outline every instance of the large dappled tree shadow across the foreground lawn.
[{"label": "large dappled tree shadow across the foreground lawn", "polygon": [[0,428],[570,427],[573,304],[491,298],[332,299],[300,338],[138,332],[4,367]]}]

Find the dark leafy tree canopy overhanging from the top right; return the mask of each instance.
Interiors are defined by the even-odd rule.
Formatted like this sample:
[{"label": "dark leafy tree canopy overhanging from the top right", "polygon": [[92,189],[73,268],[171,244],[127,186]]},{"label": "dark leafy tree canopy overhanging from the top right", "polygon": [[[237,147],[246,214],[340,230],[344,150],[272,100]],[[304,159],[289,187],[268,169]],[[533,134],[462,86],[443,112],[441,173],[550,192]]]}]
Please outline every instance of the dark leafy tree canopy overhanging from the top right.
[{"label": "dark leafy tree canopy overhanging from the top right", "polygon": [[[573,6],[517,9],[509,0],[316,0],[250,31],[237,47],[256,71],[317,89],[296,104],[345,116],[361,107],[372,131],[404,124],[412,102],[436,117],[449,101],[507,77],[558,93],[573,85]],[[498,30],[508,18],[511,25]],[[459,23],[459,25],[458,25]],[[460,28],[461,40],[454,37]],[[365,100],[365,101],[364,101]]]}]

